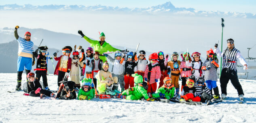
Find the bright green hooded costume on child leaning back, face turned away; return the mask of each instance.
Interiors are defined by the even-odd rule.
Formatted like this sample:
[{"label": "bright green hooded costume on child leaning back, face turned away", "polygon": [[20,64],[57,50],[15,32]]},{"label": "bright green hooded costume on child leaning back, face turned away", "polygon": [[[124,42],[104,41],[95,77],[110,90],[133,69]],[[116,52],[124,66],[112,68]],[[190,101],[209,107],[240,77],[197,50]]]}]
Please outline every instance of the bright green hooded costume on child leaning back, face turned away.
[{"label": "bright green hooded costume on child leaning back, face turned away", "polygon": [[[131,76],[134,77],[135,87],[131,88],[131,90],[127,89],[123,91],[122,95],[127,95],[127,100],[140,100],[142,97],[149,100],[147,90],[141,85],[143,82],[142,76],[138,75],[138,73],[132,74]],[[129,92],[129,94],[127,94],[127,92]]]}]

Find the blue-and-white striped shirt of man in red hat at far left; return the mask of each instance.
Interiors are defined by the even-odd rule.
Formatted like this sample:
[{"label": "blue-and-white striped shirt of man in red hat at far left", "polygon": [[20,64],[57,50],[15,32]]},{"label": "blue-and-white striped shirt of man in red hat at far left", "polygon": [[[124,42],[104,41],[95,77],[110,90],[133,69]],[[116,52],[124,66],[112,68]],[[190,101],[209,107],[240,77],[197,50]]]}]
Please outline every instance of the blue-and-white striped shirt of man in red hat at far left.
[{"label": "blue-and-white striped shirt of man in red hat at far left", "polygon": [[32,41],[26,41],[24,38],[21,37],[19,37],[17,41],[19,42],[18,52],[33,54],[32,52],[34,52],[34,43]]}]

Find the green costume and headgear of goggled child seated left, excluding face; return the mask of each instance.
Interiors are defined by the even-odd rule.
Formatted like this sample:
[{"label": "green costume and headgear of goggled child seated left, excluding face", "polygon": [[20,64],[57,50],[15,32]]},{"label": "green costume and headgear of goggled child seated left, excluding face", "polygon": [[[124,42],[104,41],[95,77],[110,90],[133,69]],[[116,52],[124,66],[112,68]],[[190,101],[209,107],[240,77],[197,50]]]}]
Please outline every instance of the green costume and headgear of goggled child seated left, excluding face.
[{"label": "green costume and headgear of goggled child seated left, excluding face", "polygon": [[[91,79],[88,79],[88,78],[85,78],[82,80],[82,85],[84,85],[84,83],[90,83],[92,84],[92,80]],[[88,92],[85,92],[83,88],[81,88],[78,92],[78,95],[77,95],[77,99],[78,100],[91,100],[93,99],[95,96],[95,89],[94,87],[91,88]]]}]

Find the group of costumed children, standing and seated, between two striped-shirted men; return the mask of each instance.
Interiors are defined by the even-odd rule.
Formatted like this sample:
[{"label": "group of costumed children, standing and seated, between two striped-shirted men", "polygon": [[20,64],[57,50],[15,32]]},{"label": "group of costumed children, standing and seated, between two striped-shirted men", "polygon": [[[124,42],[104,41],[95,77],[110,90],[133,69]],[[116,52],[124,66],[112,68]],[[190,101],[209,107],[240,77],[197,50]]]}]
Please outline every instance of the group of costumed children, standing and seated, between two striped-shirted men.
[{"label": "group of costumed children, standing and seated, between two striped-shirted men", "polygon": [[[179,54],[173,52],[168,62],[168,55],[163,52],[149,55],[149,63],[146,60],[146,52],[141,50],[137,57],[136,53],[127,52],[123,54],[119,50],[114,52],[114,58],[108,54],[93,52],[89,47],[86,54],[81,46],[72,53],[72,47],[62,48],[63,55],[57,57],[58,61],[54,74],[58,75],[57,96],[49,91],[47,83],[47,46],[39,47],[33,56],[37,59],[36,77],[34,73],[28,73],[27,92],[30,96],[58,97],[69,100],[91,100],[95,92],[99,94],[115,95],[118,93],[118,85],[121,87],[120,98],[127,100],[152,100],[153,98],[171,99],[180,96],[180,101],[215,101],[219,98],[217,81],[218,59],[213,50],[207,51],[207,60],[203,63],[200,53],[192,54],[193,60],[188,52],[181,54],[182,61],[178,60]],[[40,51],[38,54],[38,50]],[[113,65],[112,71],[108,71],[108,63],[103,63],[100,56],[106,56],[108,63]],[[80,69],[83,69],[82,85],[80,85]],[[70,74],[71,81],[68,81]],[[169,77],[171,74],[171,78]],[[43,78],[43,85],[39,83]],[[181,94],[179,77],[182,79]],[[157,82],[159,87],[157,89]],[[96,90],[97,89],[97,90]],[[214,90],[214,95],[212,94]],[[179,95],[180,94],[180,95]],[[212,96],[213,95],[213,96]]]}]

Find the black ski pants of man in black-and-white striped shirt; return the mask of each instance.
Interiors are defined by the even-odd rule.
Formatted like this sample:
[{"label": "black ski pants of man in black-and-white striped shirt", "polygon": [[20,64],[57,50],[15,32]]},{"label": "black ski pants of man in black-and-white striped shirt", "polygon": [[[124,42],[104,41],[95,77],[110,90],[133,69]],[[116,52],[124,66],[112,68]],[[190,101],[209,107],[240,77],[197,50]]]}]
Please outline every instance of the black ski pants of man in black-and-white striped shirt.
[{"label": "black ski pants of man in black-and-white striped shirt", "polygon": [[241,84],[239,83],[238,77],[237,77],[237,71],[231,70],[229,68],[223,68],[220,75],[220,88],[222,94],[226,93],[226,86],[228,84],[228,81],[231,81],[232,85],[235,87],[235,89],[238,92],[238,95],[243,94],[243,88]]}]

